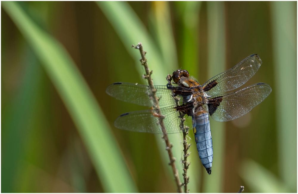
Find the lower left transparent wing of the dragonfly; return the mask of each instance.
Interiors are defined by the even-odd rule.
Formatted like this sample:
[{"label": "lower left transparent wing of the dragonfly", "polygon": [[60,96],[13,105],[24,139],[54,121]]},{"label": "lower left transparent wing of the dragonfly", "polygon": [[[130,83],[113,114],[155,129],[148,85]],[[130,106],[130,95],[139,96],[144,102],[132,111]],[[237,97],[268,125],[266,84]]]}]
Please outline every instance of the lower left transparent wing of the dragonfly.
[{"label": "lower left transparent wing of the dragonfly", "polygon": [[[181,119],[179,118],[179,111],[176,111],[175,107],[169,106],[159,109],[160,115],[157,114],[156,110],[134,111],[122,114],[115,120],[115,127],[128,131],[162,134],[162,128],[159,124],[159,119],[161,119],[160,116],[162,115],[167,134],[179,133],[181,132]],[[189,108],[191,107],[185,107],[184,110]],[[188,127],[186,129],[192,129],[191,117],[184,115],[184,118],[186,119],[184,126]]]}]

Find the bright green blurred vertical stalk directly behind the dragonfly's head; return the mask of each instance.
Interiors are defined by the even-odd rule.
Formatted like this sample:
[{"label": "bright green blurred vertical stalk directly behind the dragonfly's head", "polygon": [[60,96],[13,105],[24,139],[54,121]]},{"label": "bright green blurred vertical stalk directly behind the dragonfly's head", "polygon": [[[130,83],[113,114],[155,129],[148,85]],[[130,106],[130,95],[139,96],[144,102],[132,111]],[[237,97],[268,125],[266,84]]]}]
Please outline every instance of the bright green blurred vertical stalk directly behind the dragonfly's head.
[{"label": "bright green blurred vertical stalk directly behind the dragonfly's head", "polygon": [[[175,7],[177,13],[179,13],[179,20],[181,23],[181,40],[179,41],[179,46],[181,47],[181,64],[182,69],[186,69],[190,75],[198,78],[199,64],[198,64],[198,54],[199,54],[199,15],[201,2],[199,1],[176,1]],[[189,133],[192,146],[189,152],[191,153],[188,157],[190,167],[188,169],[188,176],[190,177],[190,182],[188,187],[191,193],[198,193],[200,191],[200,166],[201,161],[198,157],[198,151],[194,142],[194,136],[192,130]]]}]

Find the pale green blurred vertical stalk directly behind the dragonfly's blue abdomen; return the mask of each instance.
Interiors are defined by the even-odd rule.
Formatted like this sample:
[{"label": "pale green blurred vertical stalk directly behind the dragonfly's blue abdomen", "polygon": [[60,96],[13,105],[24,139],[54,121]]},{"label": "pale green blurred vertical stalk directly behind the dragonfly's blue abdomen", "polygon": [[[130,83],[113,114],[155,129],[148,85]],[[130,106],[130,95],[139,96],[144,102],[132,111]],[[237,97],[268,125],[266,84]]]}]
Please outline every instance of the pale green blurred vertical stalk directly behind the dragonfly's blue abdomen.
[{"label": "pale green blurred vertical stalk directly behind the dragonfly's blue abdomen", "polygon": [[[208,77],[213,77],[225,68],[226,62],[226,38],[225,38],[225,13],[224,2],[207,2],[207,31],[208,31]],[[222,192],[225,127],[224,123],[216,122],[210,118],[212,128],[212,140],[214,149],[214,160],[212,163],[212,175],[204,172],[203,193]]]}]

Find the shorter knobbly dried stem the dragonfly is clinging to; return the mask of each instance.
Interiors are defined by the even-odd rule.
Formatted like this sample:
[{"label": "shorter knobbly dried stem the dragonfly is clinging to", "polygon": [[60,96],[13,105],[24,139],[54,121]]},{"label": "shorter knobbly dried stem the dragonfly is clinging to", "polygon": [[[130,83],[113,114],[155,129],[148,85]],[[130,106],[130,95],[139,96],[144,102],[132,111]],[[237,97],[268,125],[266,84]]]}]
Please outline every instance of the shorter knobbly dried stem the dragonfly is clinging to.
[{"label": "shorter knobbly dried stem the dragonfly is clinging to", "polygon": [[[171,75],[167,75],[166,77],[167,81],[168,81],[168,84],[167,85],[172,85],[171,84],[171,81],[172,81],[172,76]],[[174,97],[174,96],[173,96]],[[179,97],[174,97],[174,100],[176,102],[176,105],[179,106],[179,100],[180,98]],[[187,184],[189,183],[189,176],[187,176],[187,169],[190,165],[190,162],[187,162],[187,157],[190,155],[190,153],[188,153],[188,150],[191,146],[191,144],[188,144],[187,143],[187,135],[188,135],[188,130],[189,130],[189,127],[185,126],[184,125],[184,121],[185,121],[185,118],[184,118],[184,113],[180,112],[179,111],[179,118],[181,120],[180,122],[180,130],[182,131],[183,133],[183,160],[182,160],[182,164],[184,165],[183,166],[183,179],[184,179],[184,183],[182,184],[184,186],[184,192],[185,193],[189,193],[189,189],[187,187]]]}]

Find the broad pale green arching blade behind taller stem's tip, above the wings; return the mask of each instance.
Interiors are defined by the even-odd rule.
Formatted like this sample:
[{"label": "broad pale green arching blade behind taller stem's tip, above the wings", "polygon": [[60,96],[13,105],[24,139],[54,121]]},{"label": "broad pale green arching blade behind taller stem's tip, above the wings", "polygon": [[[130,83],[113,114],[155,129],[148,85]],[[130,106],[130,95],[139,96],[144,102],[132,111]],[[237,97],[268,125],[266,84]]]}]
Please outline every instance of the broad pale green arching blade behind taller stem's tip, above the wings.
[{"label": "broad pale green arching blade behind taller stem's tip, above the wings", "polygon": [[144,74],[143,67],[139,63],[140,53],[131,48],[132,44],[142,42],[145,50],[148,52],[146,57],[150,60],[149,68],[153,71],[154,84],[164,83],[164,72],[166,67],[163,63],[162,56],[159,54],[156,45],[148,34],[145,26],[142,24],[134,10],[127,2],[119,1],[99,1],[97,5],[108,18],[128,53],[136,61],[136,69],[140,75]]}]

